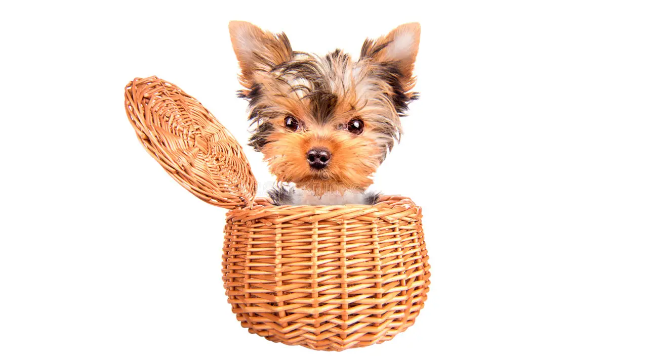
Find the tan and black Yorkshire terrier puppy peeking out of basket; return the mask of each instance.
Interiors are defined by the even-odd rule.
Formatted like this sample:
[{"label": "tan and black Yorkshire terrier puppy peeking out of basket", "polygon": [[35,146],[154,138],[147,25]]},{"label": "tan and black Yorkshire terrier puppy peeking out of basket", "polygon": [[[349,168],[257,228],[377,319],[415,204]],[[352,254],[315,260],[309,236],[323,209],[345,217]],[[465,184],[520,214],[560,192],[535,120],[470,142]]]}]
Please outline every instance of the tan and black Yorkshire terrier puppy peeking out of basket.
[{"label": "tan and black Yorkshire terrier puppy peeking out of basket", "polygon": [[249,145],[264,155],[277,186],[276,205],[371,205],[373,173],[395,141],[411,91],[419,23],[367,39],[354,61],[292,50],[286,34],[244,21],[229,23],[253,130]]}]

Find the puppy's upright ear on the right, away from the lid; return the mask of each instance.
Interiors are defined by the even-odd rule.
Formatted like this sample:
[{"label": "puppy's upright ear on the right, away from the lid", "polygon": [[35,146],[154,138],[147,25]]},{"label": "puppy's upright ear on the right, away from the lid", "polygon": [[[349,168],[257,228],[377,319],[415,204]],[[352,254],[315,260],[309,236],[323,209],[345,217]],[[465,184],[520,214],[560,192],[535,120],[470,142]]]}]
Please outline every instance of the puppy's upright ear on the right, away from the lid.
[{"label": "puppy's upright ear on the right, away from the lid", "polygon": [[403,24],[377,40],[365,40],[360,58],[371,58],[375,62],[391,63],[397,69],[404,88],[409,89],[415,82],[412,71],[416,55],[419,52],[420,38],[421,24]]}]

